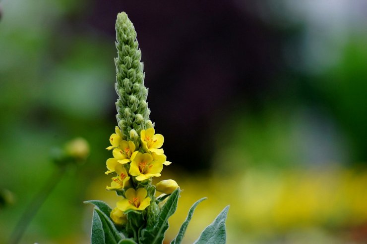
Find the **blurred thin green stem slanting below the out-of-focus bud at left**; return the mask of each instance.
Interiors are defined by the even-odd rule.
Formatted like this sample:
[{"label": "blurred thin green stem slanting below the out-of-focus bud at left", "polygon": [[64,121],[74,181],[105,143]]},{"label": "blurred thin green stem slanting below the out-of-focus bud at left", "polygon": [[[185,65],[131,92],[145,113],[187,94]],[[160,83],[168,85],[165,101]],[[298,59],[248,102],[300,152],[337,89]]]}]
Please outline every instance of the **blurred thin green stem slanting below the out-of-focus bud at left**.
[{"label": "blurred thin green stem slanting below the out-of-focus bud at left", "polygon": [[32,221],[33,217],[36,215],[37,211],[40,209],[42,204],[45,202],[47,197],[54,190],[56,185],[60,182],[63,174],[66,171],[66,165],[61,165],[57,168],[50,179],[46,182],[44,187],[34,196],[32,201],[26,207],[25,212],[19,219],[14,231],[11,234],[9,244],[17,244],[22,238],[27,226]]}]

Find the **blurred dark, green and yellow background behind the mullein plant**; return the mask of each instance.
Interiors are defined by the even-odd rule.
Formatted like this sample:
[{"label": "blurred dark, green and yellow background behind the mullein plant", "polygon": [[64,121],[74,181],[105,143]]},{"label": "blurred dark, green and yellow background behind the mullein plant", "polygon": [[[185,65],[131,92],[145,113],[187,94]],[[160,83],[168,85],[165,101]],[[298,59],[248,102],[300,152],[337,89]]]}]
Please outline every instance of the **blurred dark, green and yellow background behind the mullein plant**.
[{"label": "blurred dark, green and yellow background behind the mullein plant", "polygon": [[[192,243],[231,204],[228,243],[367,242],[367,3],[364,0],[0,1],[0,243],[82,136],[70,170],[23,243],[88,243],[91,207],[114,205],[115,20],[135,26],[151,120],[184,189]],[[5,197],[6,198],[6,197]],[[11,199],[10,199],[11,198]],[[196,217],[196,218],[195,218]]]}]

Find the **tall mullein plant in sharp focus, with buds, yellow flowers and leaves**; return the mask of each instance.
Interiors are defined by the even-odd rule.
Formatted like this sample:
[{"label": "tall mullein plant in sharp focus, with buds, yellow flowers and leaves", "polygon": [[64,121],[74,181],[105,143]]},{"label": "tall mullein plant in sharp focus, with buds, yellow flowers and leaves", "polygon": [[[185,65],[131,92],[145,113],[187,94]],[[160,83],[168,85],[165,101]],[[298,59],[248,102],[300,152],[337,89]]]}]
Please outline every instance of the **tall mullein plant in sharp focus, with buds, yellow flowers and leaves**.
[{"label": "tall mullein plant in sharp focus, with buds, yellow flowers and leaves", "polygon": [[[92,244],[161,244],[168,229],[168,218],[176,211],[180,187],[174,180],[152,184],[171,164],[163,151],[164,138],[156,134],[149,120],[146,102],[148,89],[144,86],[143,63],[136,32],[126,13],[119,13],[116,21],[115,58],[116,102],[118,126],[110,137],[107,149],[113,157],[107,159],[106,174],[112,175],[106,189],[115,191],[121,200],[111,208],[103,201],[91,200],[95,205],[92,221]],[[156,192],[161,195],[156,197]],[[158,194],[157,194],[158,195]],[[188,212],[177,237],[171,244],[180,244],[194,209]],[[202,232],[197,244],[226,242],[225,220],[227,206]]]}]

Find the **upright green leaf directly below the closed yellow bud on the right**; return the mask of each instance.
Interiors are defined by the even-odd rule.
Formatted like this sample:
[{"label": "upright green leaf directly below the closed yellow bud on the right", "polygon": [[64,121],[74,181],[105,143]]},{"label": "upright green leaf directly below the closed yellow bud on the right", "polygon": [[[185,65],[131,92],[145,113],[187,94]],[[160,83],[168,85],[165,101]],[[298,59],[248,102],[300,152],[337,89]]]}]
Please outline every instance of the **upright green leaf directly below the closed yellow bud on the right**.
[{"label": "upright green leaf directly below the closed yellow bud on the right", "polygon": [[180,189],[175,190],[166,204],[163,205],[159,214],[157,224],[152,228],[146,228],[141,231],[141,244],[161,244],[164,239],[164,234],[168,229],[168,218],[175,213],[177,202],[180,196]]}]

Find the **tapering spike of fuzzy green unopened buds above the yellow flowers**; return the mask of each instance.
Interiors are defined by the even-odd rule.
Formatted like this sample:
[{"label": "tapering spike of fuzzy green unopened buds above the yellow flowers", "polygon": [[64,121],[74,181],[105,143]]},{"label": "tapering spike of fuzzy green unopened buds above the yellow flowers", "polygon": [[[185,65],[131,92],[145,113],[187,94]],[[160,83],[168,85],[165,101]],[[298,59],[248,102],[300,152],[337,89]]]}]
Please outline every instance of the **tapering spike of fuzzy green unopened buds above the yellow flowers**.
[{"label": "tapering spike of fuzzy green unopened buds above the yellow flowers", "polygon": [[116,48],[118,57],[115,58],[116,84],[115,89],[119,98],[116,102],[116,115],[122,133],[122,140],[138,144],[141,130],[153,127],[149,120],[150,110],[146,98],[148,89],[144,86],[143,63],[141,51],[138,48],[136,32],[127,14],[122,12],[116,21]]}]

